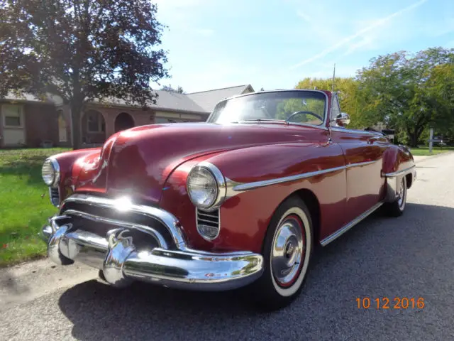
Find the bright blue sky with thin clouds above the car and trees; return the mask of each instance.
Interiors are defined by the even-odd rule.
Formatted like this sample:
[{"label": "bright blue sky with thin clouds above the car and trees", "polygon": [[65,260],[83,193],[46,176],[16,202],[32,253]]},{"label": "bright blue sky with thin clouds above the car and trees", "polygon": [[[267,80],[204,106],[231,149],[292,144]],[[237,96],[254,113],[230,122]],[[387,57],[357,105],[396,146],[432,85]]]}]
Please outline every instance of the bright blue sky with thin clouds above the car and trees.
[{"label": "bright blue sky with thin clouds above the car and trees", "polygon": [[354,76],[397,50],[454,48],[453,0],[155,0],[169,26],[172,78],[186,92],[251,84],[289,88],[304,77]]}]

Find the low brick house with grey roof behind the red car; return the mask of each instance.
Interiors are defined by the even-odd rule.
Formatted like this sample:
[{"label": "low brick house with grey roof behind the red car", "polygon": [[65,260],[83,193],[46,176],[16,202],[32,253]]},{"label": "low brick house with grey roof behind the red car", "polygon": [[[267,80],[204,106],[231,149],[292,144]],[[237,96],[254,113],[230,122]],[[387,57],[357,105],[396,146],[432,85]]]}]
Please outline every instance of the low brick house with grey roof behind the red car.
[{"label": "low brick house with grey roof behind the red car", "polygon": [[[145,124],[206,121],[222,99],[254,92],[250,85],[177,94],[156,91],[157,103],[143,110],[118,99],[90,102],[82,113],[82,143],[102,144],[116,131]],[[45,102],[25,94],[0,99],[0,148],[27,146],[72,146],[71,111],[57,97]]]}]

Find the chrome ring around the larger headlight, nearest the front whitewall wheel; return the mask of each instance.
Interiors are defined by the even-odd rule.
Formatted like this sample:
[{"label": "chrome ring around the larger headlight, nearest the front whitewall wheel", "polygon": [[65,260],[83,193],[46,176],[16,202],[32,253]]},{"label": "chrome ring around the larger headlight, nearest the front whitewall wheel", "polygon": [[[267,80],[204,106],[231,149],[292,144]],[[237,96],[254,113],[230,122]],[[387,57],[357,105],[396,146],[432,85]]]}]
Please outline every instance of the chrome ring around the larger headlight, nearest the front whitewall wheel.
[{"label": "chrome ring around the larger headlight, nearest the front whitewall wheel", "polygon": [[[189,189],[189,180],[197,172],[205,172],[214,179],[216,186],[216,196],[214,200],[212,200],[212,202],[209,202],[209,204],[201,204],[200,202],[197,202],[191,195],[191,191]],[[186,190],[189,196],[189,200],[191,200],[195,207],[199,208],[200,210],[209,212],[216,210],[219,206],[221,206],[223,200],[226,198],[226,179],[222,175],[221,171],[219,171],[219,169],[214,166],[214,164],[204,161],[194,166],[187,175]]]}]

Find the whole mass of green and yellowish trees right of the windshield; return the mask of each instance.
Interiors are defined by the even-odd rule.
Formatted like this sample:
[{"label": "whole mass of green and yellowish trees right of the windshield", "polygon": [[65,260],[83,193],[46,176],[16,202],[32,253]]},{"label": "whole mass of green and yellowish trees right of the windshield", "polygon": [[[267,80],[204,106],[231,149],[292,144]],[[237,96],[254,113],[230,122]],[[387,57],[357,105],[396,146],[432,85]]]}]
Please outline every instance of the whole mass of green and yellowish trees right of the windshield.
[{"label": "whole mass of green and yellowish trees right of the windshield", "polygon": [[[297,89],[331,90],[332,83],[305,78]],[[411,146],[428,139],[429,126],[454,139],[454,49],[380,55],[355,78],[336,78],[334,90],[341,111],[350,114],[349,127],[383,122],[396,130],[399,142]]]}]

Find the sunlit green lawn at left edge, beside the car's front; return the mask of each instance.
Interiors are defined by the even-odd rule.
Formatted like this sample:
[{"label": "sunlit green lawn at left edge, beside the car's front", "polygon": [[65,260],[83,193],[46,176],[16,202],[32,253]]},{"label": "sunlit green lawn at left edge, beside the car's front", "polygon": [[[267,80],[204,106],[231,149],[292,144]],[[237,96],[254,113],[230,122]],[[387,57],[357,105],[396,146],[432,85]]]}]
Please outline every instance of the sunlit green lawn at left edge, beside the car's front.
[{"label": "sunlit green lawn at left edge, beside the car's front", "polygon": [[67,148],[0,150],[0,266],[45,254],[38,231],[57,212],[41,178],[48,156]]}]

